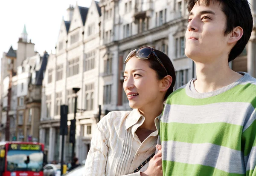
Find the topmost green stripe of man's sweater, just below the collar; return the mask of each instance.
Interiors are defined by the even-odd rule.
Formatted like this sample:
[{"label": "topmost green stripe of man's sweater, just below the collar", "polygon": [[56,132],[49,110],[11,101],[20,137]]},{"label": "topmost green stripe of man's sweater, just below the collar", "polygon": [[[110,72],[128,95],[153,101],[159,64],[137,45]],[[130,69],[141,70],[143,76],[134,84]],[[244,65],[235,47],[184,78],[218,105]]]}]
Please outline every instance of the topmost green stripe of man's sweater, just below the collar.
[{"label": "topmost green stripe of man's sweater, just below the collar", "polygon": [[[248,88],[250,86],[250,88]],[[244,90],[247,88],[246,90]],[[256,108],[256,85],[246,84],[236,87],[213,97],[195,99],[186,95],[186,89],[180,88],[167,98],[169,105],[208,105],[218,102],[249,102]],[[182,98],[181,98],[182,97]]]}]

